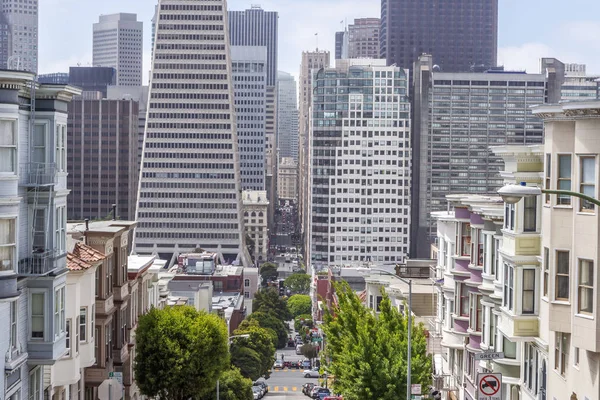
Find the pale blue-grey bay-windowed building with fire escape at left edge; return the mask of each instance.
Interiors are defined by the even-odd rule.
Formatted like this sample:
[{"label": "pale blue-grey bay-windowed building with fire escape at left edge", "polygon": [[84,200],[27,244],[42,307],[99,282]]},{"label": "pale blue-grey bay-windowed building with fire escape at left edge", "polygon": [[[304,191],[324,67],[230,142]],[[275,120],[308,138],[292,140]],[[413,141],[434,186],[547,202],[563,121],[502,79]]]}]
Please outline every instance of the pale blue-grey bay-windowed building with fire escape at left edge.
[{"label": "pale blue-grey bay-windowed building with fire escape at left edge", "polygon": [[10,400],[42,400],[67,352],[64,110],[81,92],[34,78],[0,72],[0,397]]}]

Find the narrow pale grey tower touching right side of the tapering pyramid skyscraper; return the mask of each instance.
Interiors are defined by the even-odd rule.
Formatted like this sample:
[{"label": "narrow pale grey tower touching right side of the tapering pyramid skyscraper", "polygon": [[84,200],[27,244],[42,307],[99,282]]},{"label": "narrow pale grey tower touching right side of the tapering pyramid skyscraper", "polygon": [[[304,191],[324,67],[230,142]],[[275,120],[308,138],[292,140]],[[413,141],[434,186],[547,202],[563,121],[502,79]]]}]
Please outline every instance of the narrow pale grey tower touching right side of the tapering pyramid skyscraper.
[{"label": "narrow pale grey tower touching right side of the tapering pyramid skyscraper", "polygon": [[230,48],[242,190],[265,190],[267,48]]}]

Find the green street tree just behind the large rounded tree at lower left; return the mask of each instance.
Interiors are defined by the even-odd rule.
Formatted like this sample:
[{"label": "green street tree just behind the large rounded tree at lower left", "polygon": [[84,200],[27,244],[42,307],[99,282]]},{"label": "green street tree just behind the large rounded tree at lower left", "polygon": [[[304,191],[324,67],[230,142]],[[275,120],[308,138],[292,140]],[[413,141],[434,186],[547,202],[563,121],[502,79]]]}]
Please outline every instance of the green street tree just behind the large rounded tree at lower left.
[{"label": "green street tree just behind the large rounded tree at lower left", "polygon": [[[274,342],[278,341],[278,337],[276,334],[273,336],[274,332],[272,329],[261,327],[256,320],[244,322],[245,323],[240,324],[238,329],[235,330],[234,335],[249,335],[249,337],[233,339],[233,343],[231,345],[231,362],[236,366],[239,366],[242,362],[236,358],[236,349],[238,347],[252,349],[259,356],[258,375],[256,377],[251,377],[250,375],[244,374],[244,376],[252,380],[256,380],[261,376],[268,378],[271,373],[273,362],[275,361]],[[242,370],[241,367],[240,370]]]}]

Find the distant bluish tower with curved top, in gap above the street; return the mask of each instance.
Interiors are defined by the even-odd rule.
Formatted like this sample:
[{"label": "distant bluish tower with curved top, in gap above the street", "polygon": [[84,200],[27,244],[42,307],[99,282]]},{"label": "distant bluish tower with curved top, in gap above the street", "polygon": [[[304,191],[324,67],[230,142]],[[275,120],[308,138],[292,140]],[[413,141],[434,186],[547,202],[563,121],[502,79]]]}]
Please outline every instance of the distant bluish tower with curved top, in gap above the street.
[{"label": "distant bluish tower with curved top, in gap above the street", "polygon": [[298,96],[291,74],[277,75],[277,151],[279,159],[291,157],[298,162]]}]

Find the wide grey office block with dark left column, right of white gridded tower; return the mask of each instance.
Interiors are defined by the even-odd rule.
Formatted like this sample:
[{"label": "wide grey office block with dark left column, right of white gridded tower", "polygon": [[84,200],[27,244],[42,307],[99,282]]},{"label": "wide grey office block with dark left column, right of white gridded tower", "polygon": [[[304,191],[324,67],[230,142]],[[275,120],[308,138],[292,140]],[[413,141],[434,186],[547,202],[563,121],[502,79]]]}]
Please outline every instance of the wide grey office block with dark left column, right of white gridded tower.
[{"label": "wide grey office block with dark left column, right of white gridded tower", "polygon": [[415,63],[411,257],[429,256],[431,212],[446,209],[446,195],[502,185],[490,146],[543,142],[530,107],[544,103],[545,86],[545,74],[434,72],[430,55]]}]

